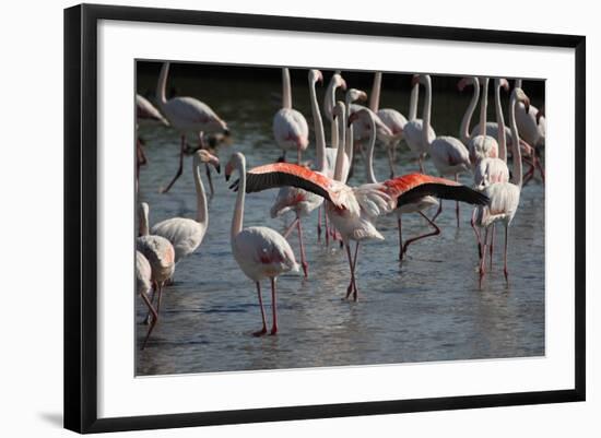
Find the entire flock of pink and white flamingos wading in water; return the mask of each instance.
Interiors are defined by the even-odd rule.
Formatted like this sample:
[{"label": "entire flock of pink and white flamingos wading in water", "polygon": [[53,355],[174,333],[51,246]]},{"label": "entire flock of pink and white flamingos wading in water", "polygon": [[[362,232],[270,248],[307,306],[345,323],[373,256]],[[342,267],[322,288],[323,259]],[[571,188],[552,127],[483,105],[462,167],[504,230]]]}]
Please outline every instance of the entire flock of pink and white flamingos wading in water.
[{"label": "entire flock of pink and white flamingos wading in water", "polygon": [[[169,64],[164,63],[158,78],[156,102],[158,109],[141,96],[137,96],[138,125],[157,123],[174,128],[180,134],[178,168],[173,180],[161,189],[167,192],[182,173],[184,155],[190,152],[188,137],[198,140],[192,149],[193,180],[197,193],[195,218],[173,217],[158,224],[149,224],[149,205],[140,203],[138,210],[139,235],[135,252],[137,294],[149,309],[149,330],[142,348],[160,319],[163,288],[173,281],[176,263],[196,251],[203,237],[210,233],[209,206],[200,167],[205,166],[213,194],[210,166],[220,171],[220,161],[210,151],[205,135],[229,135],[227,123],[209,105],[193,97],[166,99],[165,88]],[[341,72],[335,72],[326,90],[323,113],[330,123],[330,144],[326,142],[326,129],[317,100],[316,87],[323,82],[318,70],[308,71],[308,92],[314,122],[315,156],[313,166],[304,163],[303,152],[309,147],[309,127],[305,116],[293,108],[291,78],[287,68],[282,69],[282,108],[273,118],[273,156],[282,152],[273,163],[248,169],[245,156],[237,152],[225,166],[225,178],[233,174],[237,179],[229,186],[237,191],[233,208],[231,228],[232,254],[243,273],[256,284],[261,311],[262,327],[255,335],[268,333],[263,307],[261,282],[269,279],[271,286],[272,324],[271,334],[278,332],[276,280],[288,271],[303,269],[309,275],[309,260],[306,258],[306,242],[303,224],[317,215],[318,245],[321,235],[326,245],[330,239],[344,247],[349,262],[349,284],[345,298],[358,299],[356,281],[360,245],[367,240],[384,240],[378,232],[377,221],[382,215],[397,216],[399,229],[399,259],[403,259],[411,244],[440,233],[436,218],[443,211],[443,200],[456,201],[457,226],[460,224],[459,203],[474,205],[471,226],[476,237],[480,280],[486,272],[486,257],[490,251],[492,269],[495,225],[505,229],[504,273],[507,279],[508,229],[519,206],[520,191],[525,184],[539,171],[544,182],[544,170],[539,158],[544,146],[545,117],[542,110],[530,105],[517,80],[510,92],[508,108],[509,127],[505,126],[500,91],[509,90],[505,79],[494,80],[496,122],[486,121],[488,78],[463,78],[458,83],[461,92],[472,86],[472,97],[459,127],[459,138],[439,135],[432,127],[433,88],[428,74],[415,74],[412,79],[408,118],[392,108],[379,108],[382,74],[376,72],[368,106],[363,91],[347,87]],[[422,118],[417,118],[420,86],[425,91]],[[337,100],[337,91],[344,92],[344,98]],[[470,123],[480,102],[479,123],[470,131]],[[396,176],[397,149],[404,140],[419,161],[419,173]],[[374,171],[376,142],[387,151],[390,178],[378,181]],[[508,149],[512,156],[512,175],[508,168]],[[286,162],[286,152],[295,152],[295,162]],[[146,164],[143,143],[137,140],[137,176],[141,165]],[[424,173],[423,162],[429,156],[438,173]],[[356,161],[363,159],[366,184],[350,182],[356,169]],[[522,175],[522,161],[529,166]],[[458,182],[458,175],[472,173],[472,188]],[[447,179],[450,177],[452,179]],[[279,192],[271,208],[271,216],[293,212],[294,221],[285,233],[266,227],[244,227],[244,209],[247,193],[278,188]],[[426,210],[437,208],[428,217]],[[316,213],[314,213],[316,212]],[[433,228],[431,233],[403,241],[403,214],[416,213]],[[296,230],[300,264],[288,244],[288,236]],[[354,246],[354,247],[353,247]],[[475,246],[474,246],[475,247]],[[157,296],[155,303],[155,295]]]}]

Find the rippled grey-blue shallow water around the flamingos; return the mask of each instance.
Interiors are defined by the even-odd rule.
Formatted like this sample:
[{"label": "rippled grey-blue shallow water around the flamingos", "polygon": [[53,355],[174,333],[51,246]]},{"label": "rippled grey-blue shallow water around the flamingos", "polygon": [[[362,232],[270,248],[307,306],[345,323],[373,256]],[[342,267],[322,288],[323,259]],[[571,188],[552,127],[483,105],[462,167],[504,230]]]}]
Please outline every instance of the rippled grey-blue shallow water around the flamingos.
[{"label": "rippled grey-blue shallow water around the flamingos", "polygon": [[[298,71],[293,74],[305,74]],[[326,78],[329,79],[329,75]],[[436,79],[434,79],[435,81]],[[155,76],[140,78],[154,86]],[[222,167],[232,152],[241,151],[249,166],[273,162],[271,120],[278,105],[271,93],[280,84],[257,83],[233,87],[219,79],[195,85],[172,79],[181,94],[202,96],[233,132],[233,144],[217,154]],[[352,84],[350,84],[352,86]],[[198,90],[197,90],[198,87]],[[321,99],[323,90],[319,91]],[[308,118],[306,85],[295,86],[294,103]],[[233,98],[229,96],[234,96]],[[433,125],[439,134],[457,134],[469,96],[449,92],[434,95]],[[382,92],[382,107],[406,114],[406,92]],[[539,104],[540,103],[535,103]],[[491,113],[492,115],[492,113]],[[311,126],[311,121],[309,125]],[[313,132],[313,126],[311,126]],[[326,127],[329,138],[329,127]],[[141,169],[141,201],[151,206],[151,224],[196,213],[191,158],[182,177],[167,194],[160,194],[177,167],[178,135],[164,128],[141,128],[149,164]],[[308,156],[314,156],[313,142]],[[375,168],[388,177],[388,162],[376,146]],[[408,147],[400,146],[398,174],[416,170]],[[364,181],[362,162],[351,185]],[[435,174],[432,163],[427,169]],[[298,368],[424,360],[540,356],[544,354],[544,187],[535,181],[521,194],[510,227],[509,282],[503,275],[503,233],[497,230],[495,265],[479,284],[478,251],[469,226],[471,209],[461,206],[461,226],[455,225],[455,203],[445,202],[437,220],[441,234],[410,247],[398,261],[396,216],[384,217],[378,229],[386,241],[362,246],[357,265],[358,303],[341,299],[349,282],[346,256],[338,245],[317,242],[317,216],[304,221],[309,277],[282,275],[279,286],[276,336],[255,338],[261,319],[255,284],[244,276],[229,247],[235,193],[223,175],[213,173],[215,196],[209,205],[210,224],[196,253],[180,261],[175,284],[163,294],[161,320],[148,347],[138,352],[138,375]],[[204,175],[203,175],[204,178]],[[470,184],[471,176],[461,180]],[[204,186],[208,188],[207,180]],[[269,209],[276,191],[247,196],[245,226],[267,225],[282,232],[292,216],[272,220]],[[432,215],[434,211],[431,211]],[[403,216],[403,237],[427,230],[419,215]],[[296,234],[290,237],[298,258]],[[271,321],[269,282],[263,301]],[[138,343],[146,325],[144,306],[137,299]]]}]

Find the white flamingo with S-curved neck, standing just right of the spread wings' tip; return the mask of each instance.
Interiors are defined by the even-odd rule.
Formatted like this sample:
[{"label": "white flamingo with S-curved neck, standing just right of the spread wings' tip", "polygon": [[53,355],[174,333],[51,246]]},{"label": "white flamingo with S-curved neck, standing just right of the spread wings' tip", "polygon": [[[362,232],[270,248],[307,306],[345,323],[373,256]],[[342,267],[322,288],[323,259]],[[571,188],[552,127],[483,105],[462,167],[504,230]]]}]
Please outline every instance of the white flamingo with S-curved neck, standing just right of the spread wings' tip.
[{"label": "white flamingo with S-curved neck, standing just right of the spread wings' tip", "polygon": [[[504,273],[505,279],[508,279],[509,272],[507,270],[507,247],[508,247],[508,227],[516,215],[516,211],[519,206],[520,191],[522,187],[522,165],[521,165],[521,152],[519,144],[519,133],[516,123],[516,108],[518,103],[522,103],[525,109],[528,110],[530,106],[530,99],[521,88],[515,87],[511,92],[511,98],[509,103],[509,125],[511,128],[511,135],[516,140],[511,143],[514,150],[514,175],[510,182],[494,182],[484,188],[482,191],[491,199],[488,205],[480,206],[474,210],[472,222],[475,226],[485,228],[484,247],[480,251],[480,277],[484,275],[484,265],[486,259],[486,240],[488,238],[488,228],[500,222],[505,225],[505,251],[504,251]],[[499,130],[500,137],[505,134],[505,130]],[[480,234],[474,226],[479,239],[479,247],[481,246]]]}]

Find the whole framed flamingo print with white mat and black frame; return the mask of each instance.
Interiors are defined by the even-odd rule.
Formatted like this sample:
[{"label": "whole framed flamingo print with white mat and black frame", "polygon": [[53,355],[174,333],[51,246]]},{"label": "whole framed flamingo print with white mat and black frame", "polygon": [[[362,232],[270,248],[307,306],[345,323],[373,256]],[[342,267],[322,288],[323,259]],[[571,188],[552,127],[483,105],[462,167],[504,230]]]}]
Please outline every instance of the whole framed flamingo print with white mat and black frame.
[{"label": "whole framed flamingo print with white mat and black frame", "polygon": [[85,4],[64,85],[67,428],[585,400],[585,37]]}]

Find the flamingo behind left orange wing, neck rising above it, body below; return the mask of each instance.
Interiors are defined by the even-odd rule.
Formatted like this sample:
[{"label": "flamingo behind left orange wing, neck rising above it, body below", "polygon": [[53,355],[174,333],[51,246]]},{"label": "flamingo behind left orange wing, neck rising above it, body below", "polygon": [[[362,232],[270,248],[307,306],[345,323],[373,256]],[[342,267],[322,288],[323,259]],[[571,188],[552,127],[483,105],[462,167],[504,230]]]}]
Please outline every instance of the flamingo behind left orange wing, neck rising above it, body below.
[{"label": "flamingo behind left orange wing, neck rising above it, body below", "polygon": [[[321,173],[326,171],[327,161],[325,158],[326,153],[326,140],[323,133],[323,123],[321,120],[321,114],[319,111],[319,105],[317,104],[317,95],[315,85],[317,82],[323,81],[323,76],[319,70],[309,70],[309,93],[311,100],[311,113],[315,123],[315,144],[317,149],[317,168]],[[308,216],[314,210],[321,206],[323,198],[299,189],[297,187],[282,187],[278,192],[275,201],[271,208],[271,217],[278,217],[287,211],[294,211],[296,218],[291,224],[288,229],[284,233],[284,237],[287,238],[294,226],[298,232],[298,246],[300,249],[300,265],[303,267],[303,273],[305,277],[308,276],[308,263],[305,257],[305,244],[303,241],[303,226],[300,223],[302,217]],[[320,227],[318,224],[318,234]],[[328,233],[328,232],[326,232]]]}]

